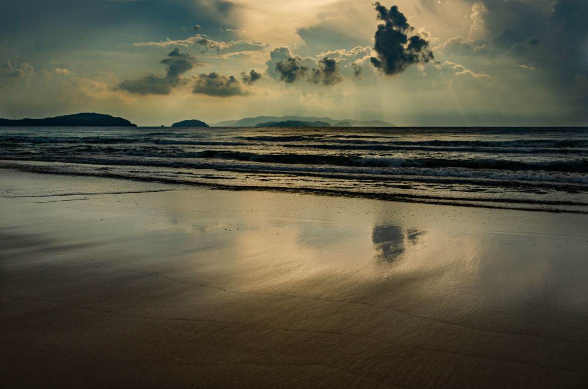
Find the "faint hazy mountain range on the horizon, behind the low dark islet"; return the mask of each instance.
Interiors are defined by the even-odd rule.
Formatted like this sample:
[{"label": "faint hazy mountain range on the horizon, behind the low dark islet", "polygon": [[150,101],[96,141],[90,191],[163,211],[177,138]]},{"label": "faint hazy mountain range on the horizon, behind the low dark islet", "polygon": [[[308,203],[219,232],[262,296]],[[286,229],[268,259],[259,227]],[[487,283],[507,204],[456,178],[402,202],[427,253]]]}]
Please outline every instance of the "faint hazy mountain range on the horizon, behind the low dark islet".
[{"label": "faint hazy mountain range on the horizon, behind the low dark islet", "polygon": [[[325,122],[332,127],[395,127],[392,123],[382,122],[380,120],[353,120],[353,119],[331,119],[318,118],[316,116],[257,116],[256,118],[243,118],[239,120],[225,120],[211,124],[212,127],[256,127],[261,123],[279,123],[279,122]],[[296,127],[296,126],[293,126]]]}]

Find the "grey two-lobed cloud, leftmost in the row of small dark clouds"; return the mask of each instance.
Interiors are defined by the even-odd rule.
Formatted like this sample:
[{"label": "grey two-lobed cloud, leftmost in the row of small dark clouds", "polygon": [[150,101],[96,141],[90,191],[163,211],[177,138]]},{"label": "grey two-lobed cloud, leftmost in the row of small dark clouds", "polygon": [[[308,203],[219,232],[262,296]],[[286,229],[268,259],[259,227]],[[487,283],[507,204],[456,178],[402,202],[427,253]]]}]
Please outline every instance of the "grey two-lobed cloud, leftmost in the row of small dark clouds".
[{"label": "grey two-lobed cloud, leftmost in the row of small dark clouds", "polygon": [[173,88],[185,83],[181,78],[183,73],[190,71],[201,63],[188,53],[182,53],[178,48],[168,54],[168,58],[162,59],[166,65],[164,77],[148,75],[135,80],[125,80],[119,85],[119,89],[138,95],[169,95]]}]

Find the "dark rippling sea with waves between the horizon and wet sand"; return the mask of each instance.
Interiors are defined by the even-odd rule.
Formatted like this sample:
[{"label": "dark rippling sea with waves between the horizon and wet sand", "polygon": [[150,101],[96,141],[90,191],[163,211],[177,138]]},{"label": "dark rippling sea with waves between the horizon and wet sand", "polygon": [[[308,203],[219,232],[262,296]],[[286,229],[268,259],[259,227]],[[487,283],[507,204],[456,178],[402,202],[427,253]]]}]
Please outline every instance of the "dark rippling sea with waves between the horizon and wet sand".
[{"label": "dark rippling sea with waves between the horizon and wet sand", "polygon": [[588,128],[0,128],[0,167],[588,213]]}]

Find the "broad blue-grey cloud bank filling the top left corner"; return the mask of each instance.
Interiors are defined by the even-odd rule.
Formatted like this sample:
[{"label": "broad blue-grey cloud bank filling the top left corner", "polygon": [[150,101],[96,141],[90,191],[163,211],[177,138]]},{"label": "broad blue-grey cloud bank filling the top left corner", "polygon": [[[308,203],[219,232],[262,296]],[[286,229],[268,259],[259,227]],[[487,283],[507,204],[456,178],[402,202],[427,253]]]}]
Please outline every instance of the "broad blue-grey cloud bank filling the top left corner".
[{"label": "broad blue-grey cloud bank filling the top left corner", "polygon": [[50,55],[56,49],[64,57],[88,48],[121,52],[137,36],[173,39],[181,26],[195,23],[201,31],[239,27],[240,6],[219,0],[6,0],[1,4],[3,58]]}]

